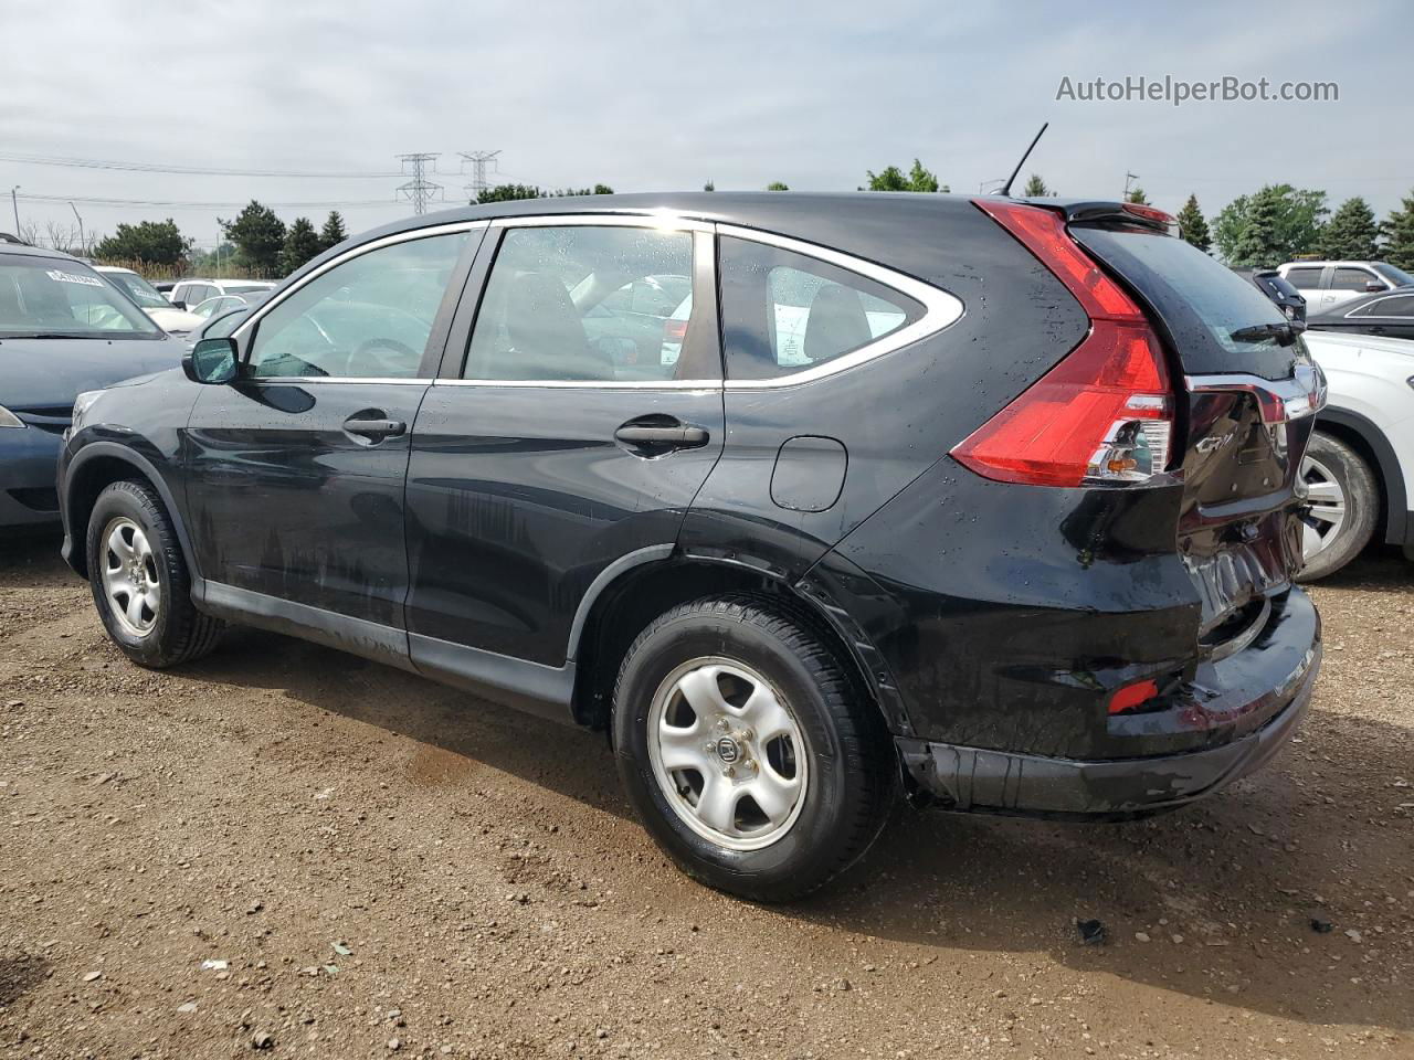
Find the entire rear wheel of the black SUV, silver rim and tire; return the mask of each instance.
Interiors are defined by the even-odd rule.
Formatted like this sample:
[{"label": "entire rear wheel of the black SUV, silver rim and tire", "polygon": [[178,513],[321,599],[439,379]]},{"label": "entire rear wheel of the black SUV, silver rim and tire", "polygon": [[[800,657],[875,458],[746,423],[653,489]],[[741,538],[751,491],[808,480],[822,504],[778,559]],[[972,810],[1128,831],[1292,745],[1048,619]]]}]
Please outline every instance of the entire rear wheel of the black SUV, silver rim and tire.
[{"label": "entire rear wheel of the black SUV, silver rim and tire", "polygon": [[619,667],[612,731],[619,779],[658,845],[745,899],[824,886],[895,801],[872,704],[810,623],[766,598],[700,599],[652,622]]}]

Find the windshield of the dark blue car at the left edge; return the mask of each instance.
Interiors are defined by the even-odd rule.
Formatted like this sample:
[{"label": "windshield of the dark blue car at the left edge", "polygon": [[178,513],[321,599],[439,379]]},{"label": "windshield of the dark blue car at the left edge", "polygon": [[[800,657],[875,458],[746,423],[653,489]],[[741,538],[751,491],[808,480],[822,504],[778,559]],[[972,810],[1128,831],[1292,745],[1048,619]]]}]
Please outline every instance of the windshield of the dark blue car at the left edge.
[{"label": "windshield of the dark blue car at the left edge", "polygon": [[82,261],[0,256],[0,338],[161,338],[147,314]]}]

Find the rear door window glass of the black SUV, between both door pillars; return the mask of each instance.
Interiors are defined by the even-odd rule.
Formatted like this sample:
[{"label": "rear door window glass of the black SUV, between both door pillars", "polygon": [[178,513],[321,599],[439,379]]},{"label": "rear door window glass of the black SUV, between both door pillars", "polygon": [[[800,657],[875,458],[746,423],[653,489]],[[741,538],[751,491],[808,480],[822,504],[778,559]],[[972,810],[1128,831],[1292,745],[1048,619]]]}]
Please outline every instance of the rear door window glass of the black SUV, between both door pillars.
[{"label": "rear door window glass of the black SUV, between both door pillars", "polygon": [[477,312],[464,379],[701,377],[682,359],[693,236],[656,228],[508,228]]}]

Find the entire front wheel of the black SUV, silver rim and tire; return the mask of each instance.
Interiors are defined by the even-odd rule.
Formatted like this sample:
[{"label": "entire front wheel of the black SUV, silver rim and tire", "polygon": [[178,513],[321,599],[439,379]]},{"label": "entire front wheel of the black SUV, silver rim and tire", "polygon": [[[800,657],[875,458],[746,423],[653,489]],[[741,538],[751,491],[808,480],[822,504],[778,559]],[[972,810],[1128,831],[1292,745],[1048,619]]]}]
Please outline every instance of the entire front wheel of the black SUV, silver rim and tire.
[{"label": "entire front wheel of the black SUV, silver rim and tire", "polygon": [[192,605],[187,560],[151,488],[106,486],[89,514],[85,548],[93,603],[123,654],[161,670],[215,649],[222,623]]}]

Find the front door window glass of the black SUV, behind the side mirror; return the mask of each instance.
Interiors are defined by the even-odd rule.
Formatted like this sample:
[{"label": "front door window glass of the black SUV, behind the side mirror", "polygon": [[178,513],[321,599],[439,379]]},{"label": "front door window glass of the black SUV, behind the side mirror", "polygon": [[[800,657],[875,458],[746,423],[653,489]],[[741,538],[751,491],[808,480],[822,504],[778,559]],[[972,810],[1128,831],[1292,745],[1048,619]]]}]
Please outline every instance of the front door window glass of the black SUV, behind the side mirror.
[{"label": "front door window glass of the black SUV, behind the side mirror", "polygon": [[369,250],[293,291],[256,325],[247,375],[414,377],[465,232]]}]

